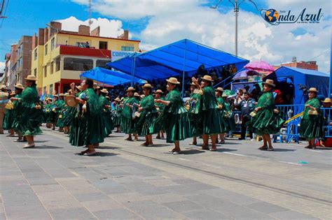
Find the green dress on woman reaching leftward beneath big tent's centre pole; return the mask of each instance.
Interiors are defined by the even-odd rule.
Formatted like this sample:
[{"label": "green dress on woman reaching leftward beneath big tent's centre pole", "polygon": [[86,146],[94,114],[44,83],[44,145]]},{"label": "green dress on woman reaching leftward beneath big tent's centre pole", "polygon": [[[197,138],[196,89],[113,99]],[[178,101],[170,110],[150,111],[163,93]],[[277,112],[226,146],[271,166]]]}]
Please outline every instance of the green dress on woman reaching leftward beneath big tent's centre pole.
[{"label": "green dress on woman reaching leftward beneath big tent's centre pole", "polygon": [[175,140],[190,138],[191,119],[184,108],[179,89],[170,91],[165,100],[170,101],[170,104],[165,106],[155,124],[163,124],[162,127],[165,128],[167,135],[166,142],[173,143]]}]

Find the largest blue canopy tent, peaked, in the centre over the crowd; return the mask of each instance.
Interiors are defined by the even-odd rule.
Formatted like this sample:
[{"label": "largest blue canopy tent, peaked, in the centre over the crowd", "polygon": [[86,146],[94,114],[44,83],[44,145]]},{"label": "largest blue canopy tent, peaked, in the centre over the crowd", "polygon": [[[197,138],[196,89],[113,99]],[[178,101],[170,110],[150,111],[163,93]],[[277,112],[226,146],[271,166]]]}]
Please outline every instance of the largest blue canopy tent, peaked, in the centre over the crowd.
[{"label": "largest blue canopy tent, peaked, in the centre over the crowd", "polygon": [[[144,80],[193,75],[201,65],[205,69],[235,64],[237,69],[249,63],[221,50],[184,39],[141,54],[132,54],[107,66]],[[182,93],[183,94],[183,93]]]}]

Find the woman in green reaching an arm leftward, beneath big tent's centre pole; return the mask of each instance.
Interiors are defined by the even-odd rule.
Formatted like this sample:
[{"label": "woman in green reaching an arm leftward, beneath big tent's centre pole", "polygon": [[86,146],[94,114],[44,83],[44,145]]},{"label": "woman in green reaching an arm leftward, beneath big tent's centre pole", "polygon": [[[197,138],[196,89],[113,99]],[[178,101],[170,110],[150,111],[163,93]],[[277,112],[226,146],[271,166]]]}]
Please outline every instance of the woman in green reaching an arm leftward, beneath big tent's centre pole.
[{"label": "woman in green reaching an arm leftward, beneath big tent's centre pole", "polygon": [[169,92],[165,101],[155,99],[155,103],[165,105],[164,110],[156,120],[156,124],[163,124],[162,127],[166,131],[166,142],[174,143],[174,149],[171,149],[170,152],[179,154],[181,151],[179,140],[191,137],[190,119],[188,111],[184,108],[180,91],[177,88],[180,82],[177,81],[177,78],[170,78],[166,81],[167,91]]}]

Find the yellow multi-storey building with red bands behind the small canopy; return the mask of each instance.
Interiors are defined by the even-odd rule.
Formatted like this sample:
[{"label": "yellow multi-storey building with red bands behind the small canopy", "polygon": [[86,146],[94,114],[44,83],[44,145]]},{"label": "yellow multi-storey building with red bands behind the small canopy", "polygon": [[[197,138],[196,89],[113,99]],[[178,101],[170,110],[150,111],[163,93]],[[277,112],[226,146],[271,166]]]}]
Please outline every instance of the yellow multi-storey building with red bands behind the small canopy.
[{"label": "yellow multi-storey building with red bands behind the small canopy", "polygon": [[[45,38],[45,37],[44,37]],[[79,75],[111,61],[111,50],[139,51],[140,41],[59,31],[32,50],[32,74],[39,94],[67,92]],[[89,45],[89,47],[87,46]]]}]

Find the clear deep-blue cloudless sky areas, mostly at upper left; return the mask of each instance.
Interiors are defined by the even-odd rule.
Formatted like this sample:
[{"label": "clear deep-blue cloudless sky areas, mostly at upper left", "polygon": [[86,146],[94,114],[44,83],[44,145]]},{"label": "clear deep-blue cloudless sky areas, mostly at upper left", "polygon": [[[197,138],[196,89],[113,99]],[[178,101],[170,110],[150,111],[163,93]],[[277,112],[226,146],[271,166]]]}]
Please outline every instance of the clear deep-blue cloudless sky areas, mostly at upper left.
[{"label": "clear deep-blue cloudless sky areas, mostly at upper left", "polygon": [[[7,0],[8,1],[8,0]],[[207,1],[206,6],[212,6],[216,1]],[[255,1],[261,7],[266,7],[264,1]],[[219,6],[221,13],[232,9],[228,1],[223,1]],[[243,3],[242,10],[256,12],[251,3]],[[78,20],[88,19],[88,7],[74,3],[69,0],[17,0],[10,1],[6,12],[6,18],[0,28],[0,54],[5,54],[10,49],[10,45],[18,41],[20,36],[32,36],[39,27],[45,27],[52,20],[62,20],[70,16]],[[104,16],[93,12],[92,17],[116,17]],[[123,26],[129,25],[130,29],[139,32],[146,27],[146,18],[139,20],[122,20]],[[2,57],[4,57],[2,55]]]}]

